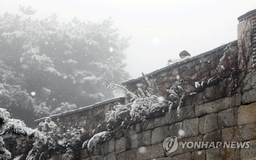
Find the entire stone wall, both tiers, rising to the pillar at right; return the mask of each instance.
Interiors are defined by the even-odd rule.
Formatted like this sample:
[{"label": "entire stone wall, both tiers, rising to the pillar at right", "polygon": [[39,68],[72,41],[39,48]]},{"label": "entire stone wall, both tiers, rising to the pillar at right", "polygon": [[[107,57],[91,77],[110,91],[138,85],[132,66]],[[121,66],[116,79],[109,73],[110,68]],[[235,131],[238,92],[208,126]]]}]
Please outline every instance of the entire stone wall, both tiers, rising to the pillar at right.
[{"label": "entire stone wall, both tiers, rising to the pillar at right", "polygon": [[[250,18],[254,13],[256,10],[240,17],[237,41],[123,82],[134,94],[140,87],[169,101],[172,98],[168,90],[172,86],[179,84],[183,90],[169,111],[152,115],[144,122],[115,126],[114,134],[90,152],[77,146],[81,148],[79,159],[256,159],[256,70],[251,60],[254,46],[243,38],[252,36]],[[240,30],[245,29],[243,26],[250,31],[248,34]],[[51,119],[58,118],[67,128],[83,127],[92,137],[108,129],[106,112],[130,100],[125,95]],[[179,147],[168,154],[163,141],[170,136],[177,137]],[[182,142],[249,142],[250,148],[182,148]],[[68,159],[65,153],[51,158]]]}]

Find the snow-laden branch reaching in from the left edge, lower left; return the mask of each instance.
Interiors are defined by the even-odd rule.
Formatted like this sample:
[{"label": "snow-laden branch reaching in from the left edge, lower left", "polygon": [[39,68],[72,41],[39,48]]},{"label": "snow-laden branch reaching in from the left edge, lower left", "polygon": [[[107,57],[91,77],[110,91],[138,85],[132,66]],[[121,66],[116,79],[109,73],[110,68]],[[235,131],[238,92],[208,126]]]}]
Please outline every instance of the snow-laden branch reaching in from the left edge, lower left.
[{"label": "snow-laden branch reaching in from the left edge, lower left", "polygon": [[[0,135],[14,133],[18,135],[25,135],[28,138],[35,139],[35,143],[46,144],[46,136],[36,129],[26,126],[23,121],[10,119],[10,113],[6,109],[0,108]],[[4,140],[0,136],[0,159],[10,159],[11,153],[3,147]]]}]

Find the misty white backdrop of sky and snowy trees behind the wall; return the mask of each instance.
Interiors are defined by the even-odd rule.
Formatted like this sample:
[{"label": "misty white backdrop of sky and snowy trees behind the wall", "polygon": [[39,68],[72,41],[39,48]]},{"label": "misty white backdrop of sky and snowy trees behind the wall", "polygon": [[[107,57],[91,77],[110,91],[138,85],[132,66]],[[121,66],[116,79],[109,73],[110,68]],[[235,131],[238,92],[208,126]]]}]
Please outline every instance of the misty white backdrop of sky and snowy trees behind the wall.
[{"label": "misty white backdrop of sky and snowy trees behind the wall", "polygon": [[255,4],[1,1],[0,103],[31,124],[114,98],[111,82],[153,72],[182,50],[195,56],[236,40],[237,17]]}]

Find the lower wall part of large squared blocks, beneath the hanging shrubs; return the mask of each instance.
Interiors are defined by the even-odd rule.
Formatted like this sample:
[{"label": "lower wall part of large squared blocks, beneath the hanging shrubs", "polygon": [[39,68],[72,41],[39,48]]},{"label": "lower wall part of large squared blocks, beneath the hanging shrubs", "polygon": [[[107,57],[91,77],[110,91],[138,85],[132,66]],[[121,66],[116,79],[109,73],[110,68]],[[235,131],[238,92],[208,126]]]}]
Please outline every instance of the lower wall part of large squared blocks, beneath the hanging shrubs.
[{"label": "lower wall part of large squared blocks, beneath the hanging shrubs", "polygon": [[[248,95],[250,93],[245,93]],[[81,159],[254,159],[256,145],[256,103],[243,105],[246,96],[236,95],[204,103],[196,108],[182,108],[166,112],[164,116],[120,129],[115,138],[98,145],[95,153],[81,151]],[[235,101],[230,104],[230,100]],[[215,108],[216,107],[216,108]],[[215,108],[207,110],[206,108]],[[184,134],[179,134],[184,130]],[[177,136],[179,147],[166,154],[163,140]],[[185,148],[181,142],[250,142],[249,149]]]}]

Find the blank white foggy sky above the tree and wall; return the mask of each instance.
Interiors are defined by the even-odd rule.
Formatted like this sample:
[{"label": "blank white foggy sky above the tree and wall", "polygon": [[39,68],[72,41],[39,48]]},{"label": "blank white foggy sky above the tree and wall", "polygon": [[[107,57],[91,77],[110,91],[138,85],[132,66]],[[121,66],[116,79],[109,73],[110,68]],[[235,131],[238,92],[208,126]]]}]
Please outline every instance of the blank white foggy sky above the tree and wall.
[{"label": "blank white foggy sky above the tree and wall", "polygon": [[56,13],[58,20],[101,22],[112,17],[120,36],[130,37],[125,51],[127,71],[133,78],[162,67],[182,50],[192,56],[237,39],[237,18],[256,8],[255,0],[244,1],[35,1],[1,0],[0,14],[21,14],[18,6],[36,10],[33,18]]}]

